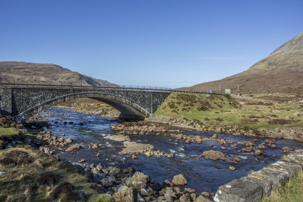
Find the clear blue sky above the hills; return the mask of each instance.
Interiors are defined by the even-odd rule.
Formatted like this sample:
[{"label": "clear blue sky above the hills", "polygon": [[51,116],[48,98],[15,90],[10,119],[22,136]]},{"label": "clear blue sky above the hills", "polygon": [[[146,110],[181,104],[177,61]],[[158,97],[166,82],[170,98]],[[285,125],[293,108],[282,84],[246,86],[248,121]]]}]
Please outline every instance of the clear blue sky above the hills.
[{"label": "clear blue sky above the hills", "polygon": [[302,11],[302,0],[0,0],[0,61],[188,87],[265,58],[303,31]]}]

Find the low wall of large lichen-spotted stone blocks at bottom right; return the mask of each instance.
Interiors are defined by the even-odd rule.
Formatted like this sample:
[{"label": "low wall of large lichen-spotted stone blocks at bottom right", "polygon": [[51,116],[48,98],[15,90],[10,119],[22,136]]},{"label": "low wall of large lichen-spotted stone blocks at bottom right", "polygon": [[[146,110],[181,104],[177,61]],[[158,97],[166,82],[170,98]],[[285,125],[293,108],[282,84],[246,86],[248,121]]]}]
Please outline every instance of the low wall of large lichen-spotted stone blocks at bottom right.
[{"label": "low wall of large lichen-spotted stone blocks at bottom right", "polygon": [[303,170],[303,150],[284,156],[260,171],[251,172],[246,177],[221,185],[214,197],[216,202],[259,202],[272,191],[291,180],[295,173]]}]

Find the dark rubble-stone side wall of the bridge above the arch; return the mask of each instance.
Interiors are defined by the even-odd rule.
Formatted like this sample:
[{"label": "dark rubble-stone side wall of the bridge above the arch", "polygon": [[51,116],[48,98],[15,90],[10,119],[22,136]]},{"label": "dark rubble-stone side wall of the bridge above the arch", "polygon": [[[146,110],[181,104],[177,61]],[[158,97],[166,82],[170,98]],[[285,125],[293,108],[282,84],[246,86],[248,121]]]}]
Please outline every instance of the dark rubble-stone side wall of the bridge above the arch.
[{"label": "dark rubble-stone side wall of the bridge above the arch", "polygon": [[[2,88],[2,111],[11,109],[12,116],[23,113],[29,108],[38,106],[45,101],[55,101],[62,96],[77,94],[108,94],[129,100],[138,104],[150,113],[153,113],[164,102],[170,93],[145,91],[118,91],[118,90],[82,90],[60,88]],[[10,95],[9,95],[10,94]],[[10,104],[11,103],[11,104]]]}]

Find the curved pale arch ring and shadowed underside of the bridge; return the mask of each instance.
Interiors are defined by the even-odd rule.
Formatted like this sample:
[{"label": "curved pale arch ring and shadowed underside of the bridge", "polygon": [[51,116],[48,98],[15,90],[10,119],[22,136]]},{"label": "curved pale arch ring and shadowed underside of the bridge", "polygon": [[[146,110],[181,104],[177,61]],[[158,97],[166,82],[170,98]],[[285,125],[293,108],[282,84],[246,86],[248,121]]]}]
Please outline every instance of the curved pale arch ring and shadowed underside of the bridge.
[{"label": "curved pale arch ring and shadowed underside of the bridge", "polygon": [[104,102],[106,104],[109,104],[113,108],[120,111],[122,113],[122,118],[125,120],[144,120],[146,117],[149,117],[151,115],[151,113],[148,110],[123,97],[114,94],[107,94],[107,93],[85,92],[85,93],[64,95],[44,101],[18,114],[15,117],[15,119],[19,121],[24,121],[49,107],[55,106],[65,101],[79,99],[79,98],[92,98]]}]

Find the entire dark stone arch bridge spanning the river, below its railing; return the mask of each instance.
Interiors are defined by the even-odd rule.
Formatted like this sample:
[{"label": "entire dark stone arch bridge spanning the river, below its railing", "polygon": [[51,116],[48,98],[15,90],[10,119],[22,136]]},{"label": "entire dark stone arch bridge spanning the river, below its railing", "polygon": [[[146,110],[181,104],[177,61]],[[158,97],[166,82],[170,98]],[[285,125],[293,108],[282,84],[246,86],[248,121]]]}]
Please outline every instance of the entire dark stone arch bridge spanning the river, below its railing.
[{"label": "entire dark stone arch bridge spanning the river, below its railing", "polygon": [[56,104],[92,98],[116,108],[126,120],[143,120],[154,113],[169,94],[121,89],[0,87],[0,112],[17,121],[24,121]]}]

